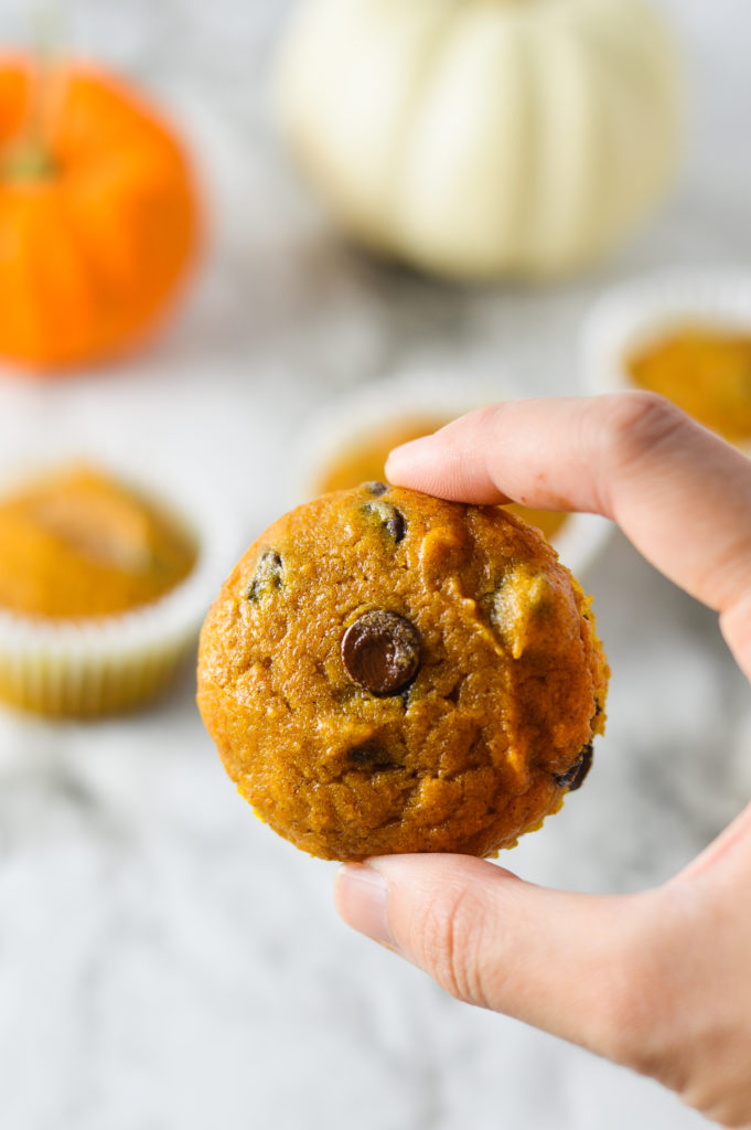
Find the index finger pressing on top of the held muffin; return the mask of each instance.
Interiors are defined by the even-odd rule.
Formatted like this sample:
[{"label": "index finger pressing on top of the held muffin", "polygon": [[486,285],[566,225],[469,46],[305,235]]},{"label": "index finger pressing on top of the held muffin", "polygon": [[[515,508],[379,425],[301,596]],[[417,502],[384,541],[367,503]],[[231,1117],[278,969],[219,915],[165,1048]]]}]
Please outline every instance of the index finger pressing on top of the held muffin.
[{"label": "index finger pressing on top of the held muffin", "polygon": [[393,483],[613,519],[698,600],[751,677],[751,461],[650,393],[510,401],[398,447]]}]

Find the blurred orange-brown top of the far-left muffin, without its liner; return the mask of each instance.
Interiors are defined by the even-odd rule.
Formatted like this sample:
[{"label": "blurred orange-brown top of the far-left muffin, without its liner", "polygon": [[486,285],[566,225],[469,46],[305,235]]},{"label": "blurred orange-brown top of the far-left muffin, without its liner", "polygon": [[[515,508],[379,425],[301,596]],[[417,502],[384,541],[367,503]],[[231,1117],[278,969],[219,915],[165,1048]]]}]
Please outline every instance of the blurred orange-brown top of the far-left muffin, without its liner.
[{"label": "blurred orange-brown top of the far-left muffin, without its liner", "polygon": [[193,570],[189,532],[155,502],[88,466],[0,499],[0,608],[45,619],[151,603]]}]

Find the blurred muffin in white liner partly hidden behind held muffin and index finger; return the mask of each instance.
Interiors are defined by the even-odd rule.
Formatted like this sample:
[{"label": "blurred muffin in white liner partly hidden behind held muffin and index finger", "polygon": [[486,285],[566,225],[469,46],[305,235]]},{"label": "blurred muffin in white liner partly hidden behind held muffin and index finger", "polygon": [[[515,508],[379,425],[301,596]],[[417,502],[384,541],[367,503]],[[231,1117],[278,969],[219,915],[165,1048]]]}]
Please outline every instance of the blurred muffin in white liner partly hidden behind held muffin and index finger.
[{"label": "blurred muffin in white liner partly hidden behind held muffin and index finger", "polygon": [[[407,373],[364,386],[324,407],[309,421],[290,504],[382,480],[393,447],[504,399],[509,399],[509,390],[500,382],[443,372]],[[610,528],[591,514],[516,504],[507,508],[541,530],[561,559],[578,572],[590,564]]]}]

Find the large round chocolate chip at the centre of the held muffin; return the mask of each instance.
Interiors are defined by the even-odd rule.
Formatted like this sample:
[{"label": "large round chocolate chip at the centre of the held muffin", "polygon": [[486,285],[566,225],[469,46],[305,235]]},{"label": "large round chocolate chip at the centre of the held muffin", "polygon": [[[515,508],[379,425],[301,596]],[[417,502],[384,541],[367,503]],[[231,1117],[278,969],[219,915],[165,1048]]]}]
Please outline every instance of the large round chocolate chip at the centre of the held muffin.
[{"label": "large round chocolate chip at the centre of the held muffin", "polygon": [[396,695],[420,666],[420,635],[396,612],[364,612],[341,642],[344,670],[353,683],[374,695]]}]

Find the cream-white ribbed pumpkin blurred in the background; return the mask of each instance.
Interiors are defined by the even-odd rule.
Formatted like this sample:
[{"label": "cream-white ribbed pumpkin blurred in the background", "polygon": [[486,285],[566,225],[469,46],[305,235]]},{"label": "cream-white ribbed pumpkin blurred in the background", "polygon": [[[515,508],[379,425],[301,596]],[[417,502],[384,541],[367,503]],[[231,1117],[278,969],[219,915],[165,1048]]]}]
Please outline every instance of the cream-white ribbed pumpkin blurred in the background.
[{"label": "cream-white ribbed pumpkin blurred in the background", "polygon": [[457,278],[597,260],[679,149],[676,53],[640,0],[300,0],[278,79],[344,228]]}]

